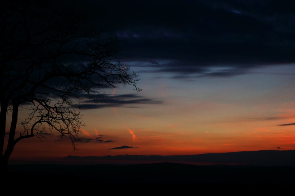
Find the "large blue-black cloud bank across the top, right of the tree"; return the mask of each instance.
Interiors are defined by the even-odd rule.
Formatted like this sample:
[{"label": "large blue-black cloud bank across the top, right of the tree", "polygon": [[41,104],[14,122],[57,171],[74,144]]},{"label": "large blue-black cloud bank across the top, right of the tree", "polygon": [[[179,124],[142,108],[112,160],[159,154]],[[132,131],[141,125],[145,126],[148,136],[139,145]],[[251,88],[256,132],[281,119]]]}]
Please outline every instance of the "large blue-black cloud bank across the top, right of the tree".
[{"label": "large blue-black cloud bank across the top, right of the tree", "polygon": [[110,0],[86,5],[100,28],[119,37],[120,56],[147,72],[177,79],[229,77],[295,62],[293,1]]}]

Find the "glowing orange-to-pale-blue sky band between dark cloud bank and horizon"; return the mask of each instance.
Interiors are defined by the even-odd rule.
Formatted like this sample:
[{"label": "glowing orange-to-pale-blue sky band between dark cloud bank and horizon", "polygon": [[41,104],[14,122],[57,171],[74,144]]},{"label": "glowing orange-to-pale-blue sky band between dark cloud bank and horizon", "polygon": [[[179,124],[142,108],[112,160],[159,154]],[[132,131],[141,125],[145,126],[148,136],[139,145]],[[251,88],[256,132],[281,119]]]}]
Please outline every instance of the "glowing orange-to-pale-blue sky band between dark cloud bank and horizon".
[{"label": "glowing orange-to-pale-blue sky band between dark cloud bank and horizon", "polygon": [[[285,93],[281,86],[289,83],[276,83],[267,89],[276,77],[264,75],[268,81],[261,84],[253,78],[256,75],[200,78],[198,85],[191,87],[165,78],[159,82],[150,76],[140,81],[144,90],[139,94],[116,85],[114,89],[104,89],[106,94],[112,98],[116,94],[130,95],[136,101],[120,108],[81,110],[86,126],[80,129],[85,141],[77,143],[79,150],[73,151],[68,138],[58,141],[59,133],[53,131],[54,135],[46,136],[42,142],[37,138],[20,141],[12,157],[193,155],[295,149],[295,94],[279,97]],[[158,89],[164,90],[160,96]],[[292,92],[293,86],[284,90]],[[153,104],[153,100],[163,102]],[[20,111],[20,118],[26,115],[27,111]],[[21,130],[18,126],[16,136]],[[120,149],[122,146],[130,148]]]}]

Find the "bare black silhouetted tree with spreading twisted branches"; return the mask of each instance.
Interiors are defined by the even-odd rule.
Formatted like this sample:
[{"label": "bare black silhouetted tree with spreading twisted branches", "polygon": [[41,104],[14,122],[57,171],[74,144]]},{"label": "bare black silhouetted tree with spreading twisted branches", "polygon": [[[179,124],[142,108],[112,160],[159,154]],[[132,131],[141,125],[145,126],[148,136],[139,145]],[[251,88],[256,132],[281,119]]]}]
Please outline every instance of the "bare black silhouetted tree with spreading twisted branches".
[{"label": "bare black silhouetted tree with spreading twisted branches", "polygon": [[[14,146],[25,138],[56,130],[75,148],[83,125],[73,110],[77,100],[95,99],[102,85],[140,89],[136,72],[116,61],[116,38],[89,29],[80,12],[44,1],[0,4],[0,161],[5,171]],[[18,119],[21,107],[29,110],[24,120]],[[23,127],[18,135],[17,125]]]}]

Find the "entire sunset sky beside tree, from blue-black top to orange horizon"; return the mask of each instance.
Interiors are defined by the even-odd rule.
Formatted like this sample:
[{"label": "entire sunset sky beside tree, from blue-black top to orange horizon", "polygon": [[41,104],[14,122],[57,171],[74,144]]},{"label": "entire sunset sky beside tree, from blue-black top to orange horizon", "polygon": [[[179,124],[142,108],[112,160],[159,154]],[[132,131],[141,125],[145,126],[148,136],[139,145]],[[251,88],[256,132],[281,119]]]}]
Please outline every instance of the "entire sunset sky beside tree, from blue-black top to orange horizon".
[{"label": "entire sunset sky beside tree, from blue-black top to orange horizon", "polygon": [[92,24],[118,37],[120,61],[139,73],[142,91],[117,85],[101,89],[100,104],[82,100],[79,150],[53,133],[42,142],[20,141],[11,160],[295,149],[292,3],[87,0],[73,6],[89,9]]}]

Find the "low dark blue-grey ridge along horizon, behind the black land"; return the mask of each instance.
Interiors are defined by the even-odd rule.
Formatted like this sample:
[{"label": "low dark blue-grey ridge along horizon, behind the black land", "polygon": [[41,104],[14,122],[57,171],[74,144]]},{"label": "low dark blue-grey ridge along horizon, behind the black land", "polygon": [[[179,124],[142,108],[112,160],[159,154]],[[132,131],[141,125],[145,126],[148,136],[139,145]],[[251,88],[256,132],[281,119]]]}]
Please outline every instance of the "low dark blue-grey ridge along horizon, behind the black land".
[{"label": "low dark blue-grey ridge along horizon, behind the black land", "polygon": [[260,150],[231,153],[207,153],[199,155],[117,155],[117,156],[67,156],[64,161],[81,163],[159,163],[175,162],[188,164],[242,164],[260,166],[293,166],[295,167],[295,150]]}]

